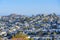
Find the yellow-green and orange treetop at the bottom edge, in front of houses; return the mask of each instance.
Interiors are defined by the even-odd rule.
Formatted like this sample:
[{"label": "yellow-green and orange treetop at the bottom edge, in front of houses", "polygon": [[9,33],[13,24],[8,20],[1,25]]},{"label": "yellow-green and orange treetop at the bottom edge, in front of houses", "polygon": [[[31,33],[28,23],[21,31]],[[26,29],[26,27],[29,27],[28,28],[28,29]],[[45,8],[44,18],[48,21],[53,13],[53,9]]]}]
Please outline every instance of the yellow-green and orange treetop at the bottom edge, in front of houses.
[{"label": "yellow-green and orange treetop at the bottom edge, in front of houses", "polygon": [[32,38],[28,38],[28,35],[23,34],[22,32],[12,36],[12,40],[33,40]]}]

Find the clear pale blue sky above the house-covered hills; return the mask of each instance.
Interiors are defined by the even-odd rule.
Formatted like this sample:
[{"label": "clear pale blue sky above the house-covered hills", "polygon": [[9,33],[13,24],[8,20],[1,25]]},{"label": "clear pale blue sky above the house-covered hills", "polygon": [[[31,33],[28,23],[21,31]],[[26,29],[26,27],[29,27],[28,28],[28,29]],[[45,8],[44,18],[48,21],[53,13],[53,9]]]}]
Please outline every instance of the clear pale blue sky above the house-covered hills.
[{"label": "clear pale blue sky above the house-covered hills", "polygon": [[0,0],[0,15],[60,15],[60,0]]}]

